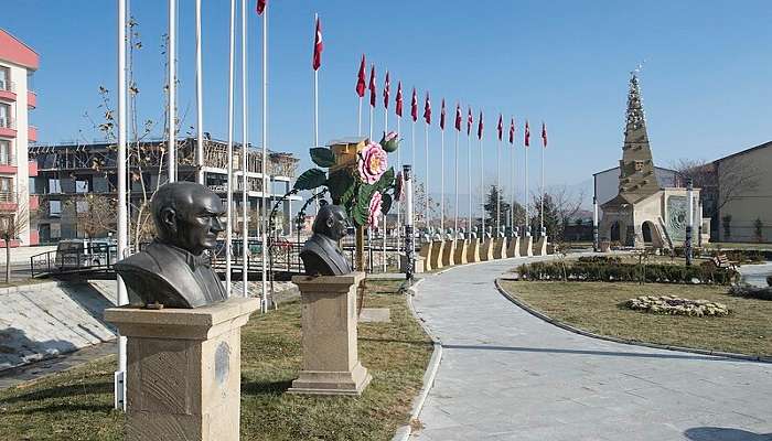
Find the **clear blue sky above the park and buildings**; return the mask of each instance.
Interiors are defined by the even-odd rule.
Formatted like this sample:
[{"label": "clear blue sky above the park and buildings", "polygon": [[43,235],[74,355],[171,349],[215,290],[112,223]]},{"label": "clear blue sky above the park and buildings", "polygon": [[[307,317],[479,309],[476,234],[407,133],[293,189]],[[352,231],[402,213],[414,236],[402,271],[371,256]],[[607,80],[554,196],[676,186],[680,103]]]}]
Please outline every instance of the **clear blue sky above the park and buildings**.
[{"label": "clear blue sky above the park and buildings", "polygon": [[[140,119],[159,119],[167,2],[131,3],[144,44],[136,62]],[[204,0],[205,130],[223,139],[227,133],[228,4]],[[436,120],[441,98],[448,100],[449,127],[457,100],[471,105],[475,116],[483,109],[489,182],[495,175],[500,111],[518,120],[519,144],[525,118],[532,121],[533,141],[538,141],[538,121],[547,121],[548,185],[576,185],[592,172],[615,165],[621,158],[629,72],[643,60],[644,108],[658,165],[687,157],[716,159],[772,139],[769,1],[274,0],[269,4],[269,147],[294,152],[304,164],[313,141],[310,62],[314,12],[322,17],[325,44],[320,72],[322,141],[356,132],[354,85],[362,53],[376,63],[378,88],[385,68],[390,71],[393,96],[397,79],[403,80],[406,115],[412,86],[421,96],[430,92]],[[79,130],[86,138],[97,137],[83,114],[98,114],[99,85],[115,89],[116,2],[6,0],[3,10],[0,26],[41,55],[35,75],[39,108],[32,116],[41,141],[74,139]],[[179,101],[181,111],[187,109],[184,127],[189,127],[195,121],[193,1],[181,1],[179,10]],[[254,13],[254,0],[248,11],[249,138],[258,141],[261,21]],[[363,120],[366,129],[366,112]],[[393,115],[389,120],[394,122]],[[236,121],[240,139],[239,114]],[[404,153],[409,154],[407,121],[403,123],[407,135]],[[375,127],[376,132],[383,130],[380,108]],[[422,126],[417,133],[420,152]],[[449,130],[449,158],[452,140]],[[437,126],[430,141],[439,158]],[[517,154],[522,164],[522,148]],[[461,158],[465,158],[465,142]],[[534,149],[534,183],[538,159]],[[423,161],[417,166],[421,173]],[[450,159],[447,170],[451,189]],[[476,182],[476,162],[473,170]],[[439,172],[432,173],[437,176]],[[515,173],[521,181],[521,170]],[[464,180],[465,175],[461,181],[465,189]],[[439,181],[431,189],[436,192]]]}]

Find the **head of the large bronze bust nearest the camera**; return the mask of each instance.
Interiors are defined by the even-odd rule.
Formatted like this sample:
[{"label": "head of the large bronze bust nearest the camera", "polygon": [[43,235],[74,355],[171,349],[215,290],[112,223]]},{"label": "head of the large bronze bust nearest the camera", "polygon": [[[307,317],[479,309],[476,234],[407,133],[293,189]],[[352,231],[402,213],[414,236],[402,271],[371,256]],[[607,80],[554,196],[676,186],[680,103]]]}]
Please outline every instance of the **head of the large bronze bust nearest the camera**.
[{"label": "head of the large bronze bust nearest the camera", "polygon": [[217,245],[225,229],[223,201],[210,189],[194,182],[162,185],[151,201],[158,238],[194,256]]}]

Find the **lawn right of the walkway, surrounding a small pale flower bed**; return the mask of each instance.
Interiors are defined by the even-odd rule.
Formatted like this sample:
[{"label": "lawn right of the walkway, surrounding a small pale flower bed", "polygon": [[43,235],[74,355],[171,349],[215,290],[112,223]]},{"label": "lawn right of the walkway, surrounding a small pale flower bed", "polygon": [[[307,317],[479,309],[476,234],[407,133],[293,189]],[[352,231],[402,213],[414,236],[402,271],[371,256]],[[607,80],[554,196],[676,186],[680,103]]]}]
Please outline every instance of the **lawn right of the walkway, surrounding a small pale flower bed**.
[{"label": "lawn right of the walkway, surrounding a small pale flower bed", "polygon": [[[668,283],[503,281],[516,298],[553,319],[601,335],[748,355],[772,355],[772,301],[728,295],[727,287]],[[725,303],[725,318],[658,315],[622,305],[639,295]]]}]

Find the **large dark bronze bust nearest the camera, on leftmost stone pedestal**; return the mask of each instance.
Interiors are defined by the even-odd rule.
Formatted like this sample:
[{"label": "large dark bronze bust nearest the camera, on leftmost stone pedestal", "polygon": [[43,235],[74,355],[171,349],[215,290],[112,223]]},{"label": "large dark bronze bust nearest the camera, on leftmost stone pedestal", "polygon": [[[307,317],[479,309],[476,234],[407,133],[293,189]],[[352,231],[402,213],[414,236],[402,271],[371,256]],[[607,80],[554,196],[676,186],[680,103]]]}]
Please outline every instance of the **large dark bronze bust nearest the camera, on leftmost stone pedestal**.
[{"label": "large dark bronze bust nearest the camera, on leftmost stone pedestal", "polygon": [[219,196],[194,182],[173,182],[158,189],[150,209],[156,240],[115,265],[131,303],[199,308],[227,299],[204,252],[225,229]]}]

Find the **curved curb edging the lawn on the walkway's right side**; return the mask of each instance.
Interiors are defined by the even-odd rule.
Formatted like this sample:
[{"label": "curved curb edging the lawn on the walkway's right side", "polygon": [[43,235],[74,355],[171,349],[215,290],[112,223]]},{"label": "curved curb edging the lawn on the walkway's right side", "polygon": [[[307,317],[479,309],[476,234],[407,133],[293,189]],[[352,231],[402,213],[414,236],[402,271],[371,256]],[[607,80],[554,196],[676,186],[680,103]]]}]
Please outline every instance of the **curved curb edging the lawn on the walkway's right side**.
[{"label": "curved curb edging the lawn on the walkway's right side", "polygon": [[612,342],[612,343],[626,344],[626,345],[631,345],[631,346],[651,347],[653,349],[677,351],[677,352],[685,352],[685,353],[689,353],[689,354],[708,355],[708,356],[714,356],[714,357],[718,357],[718,358],[740,359],[743,362],[772,363],[772,356],[764,356],[764,355],[753,356],[753,355],[735,354],[735,353],[721,352],[721,351],[699,349],[699,348],[695,348],[695,347],[662,345],[662,344],[656,344],[656,343],[640,342],[637,340],[626,340],[626,338],[611,337],[608,335],[599,335],[599,334],[596,334],[596,333],[592,333],[589,331],[580,330],[578,327],[571,326],[570,324],[567,324],[567,323],[564,323],[559,320],[553,319],[549,315],[546,315],[540,311],[535,310],[529,304],[517,299],[515,295],[511,294],[504,288],[502,288],[500,284],[500,280],[502,280],[502,279],[496,279],[494,281],[494,284],[496,286],[496,289],[498,290],[498,292],[506,300],[511,301],[512,303],[514,303],[516,306],[521,308],[525,312],[527,312],[527,313],[529,313],[538,319],[542,319],[549,324],[561,327],[561,329],[569,331],[569,332],[572,332],[575,334],[583,335],[583,336],[590,337],[590,338],[603,340],[603,341]]}]

